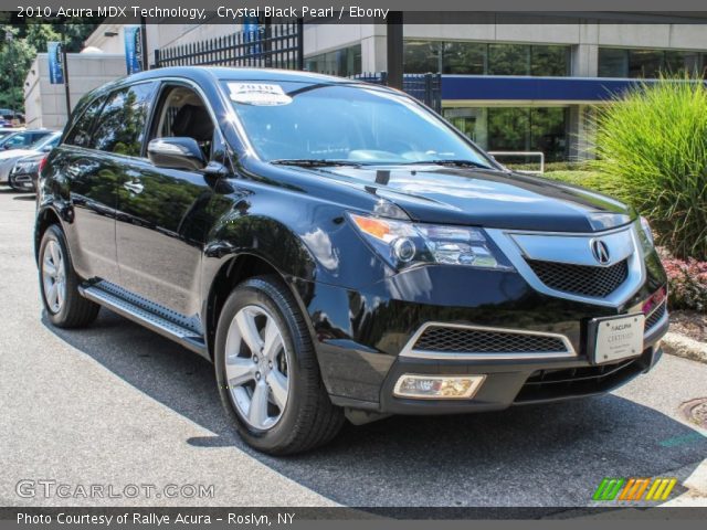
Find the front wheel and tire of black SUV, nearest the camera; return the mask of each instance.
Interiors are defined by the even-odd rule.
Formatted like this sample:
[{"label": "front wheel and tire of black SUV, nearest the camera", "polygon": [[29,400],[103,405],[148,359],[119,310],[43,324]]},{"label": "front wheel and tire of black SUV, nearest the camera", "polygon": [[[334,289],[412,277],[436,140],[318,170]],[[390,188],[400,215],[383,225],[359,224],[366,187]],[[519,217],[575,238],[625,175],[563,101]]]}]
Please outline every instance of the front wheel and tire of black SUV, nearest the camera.
[{"label": "front wheel and tire of black SUV, nearest the camera", "polygon": [[231,293],[219,318],[214,364],[221,402],[257,451],[309,451],[331,441],[344,424],[342,410],[324,388],[304,317],[276,276],[247,279]]}]

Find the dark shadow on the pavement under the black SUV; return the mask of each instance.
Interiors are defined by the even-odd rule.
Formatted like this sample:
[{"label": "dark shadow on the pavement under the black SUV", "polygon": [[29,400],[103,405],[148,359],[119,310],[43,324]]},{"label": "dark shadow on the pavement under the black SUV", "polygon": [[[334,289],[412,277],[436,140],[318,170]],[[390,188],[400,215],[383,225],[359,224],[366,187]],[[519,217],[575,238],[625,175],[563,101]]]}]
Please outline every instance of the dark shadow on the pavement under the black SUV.
[{"label": "dark shadow on the pavement under the black SUV", "polygon": [[214,433],[187,443],[238,447],[347,506],[587,506],[603,477],[675,475],[707,454],[707,438],[689,427],[606,395],[500,413],[347,424],[326,447],[273,458],[246,447],[228,424],[208,361],[105,309],[85,330],[44,325]]}]

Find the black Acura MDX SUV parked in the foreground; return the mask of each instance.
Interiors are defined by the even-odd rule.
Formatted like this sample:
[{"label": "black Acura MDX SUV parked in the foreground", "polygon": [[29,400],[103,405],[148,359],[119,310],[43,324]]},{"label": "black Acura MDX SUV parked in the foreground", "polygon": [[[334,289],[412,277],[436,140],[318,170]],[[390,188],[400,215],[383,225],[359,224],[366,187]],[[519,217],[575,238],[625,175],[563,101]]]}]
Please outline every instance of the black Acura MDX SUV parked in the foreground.
[{"label": "black Acura MDX SUV parked in the foreground", "polygon": [[65,130],[39,183],[49,319],[105,306],[213,361],[257,449],[599,394],[661,356],[647,224],[511,173],[397,91],[165,68],[91,93]]}]

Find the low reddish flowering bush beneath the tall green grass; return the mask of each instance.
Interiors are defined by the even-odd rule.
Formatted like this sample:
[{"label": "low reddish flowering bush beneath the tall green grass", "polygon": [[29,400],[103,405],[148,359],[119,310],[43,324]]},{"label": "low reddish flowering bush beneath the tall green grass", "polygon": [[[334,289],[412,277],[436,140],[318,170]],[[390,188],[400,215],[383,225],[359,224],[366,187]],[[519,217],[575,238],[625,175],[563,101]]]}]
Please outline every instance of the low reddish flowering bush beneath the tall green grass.
[{"label": "low reddish flowering bush beneath the tall green grass", "polygon": [[678,259],[658,250],[668,279],[672,309],[707,310],[707,262]]}]

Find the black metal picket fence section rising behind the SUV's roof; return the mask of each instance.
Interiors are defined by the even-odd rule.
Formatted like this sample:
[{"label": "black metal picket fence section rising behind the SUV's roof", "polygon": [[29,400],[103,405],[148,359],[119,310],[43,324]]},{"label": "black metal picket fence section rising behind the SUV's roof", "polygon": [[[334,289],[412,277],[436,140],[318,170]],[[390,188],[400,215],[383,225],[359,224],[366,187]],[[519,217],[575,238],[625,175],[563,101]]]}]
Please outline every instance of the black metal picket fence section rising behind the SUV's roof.
[{"label": "black metal picket fence section rising behind the SUV's roof", "polygon": [[265,25],[201,42],[155,50],[155,66],[250,66],[303,70],[303,23]]}]

